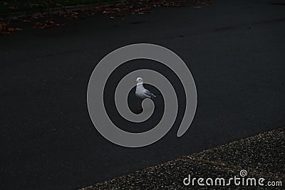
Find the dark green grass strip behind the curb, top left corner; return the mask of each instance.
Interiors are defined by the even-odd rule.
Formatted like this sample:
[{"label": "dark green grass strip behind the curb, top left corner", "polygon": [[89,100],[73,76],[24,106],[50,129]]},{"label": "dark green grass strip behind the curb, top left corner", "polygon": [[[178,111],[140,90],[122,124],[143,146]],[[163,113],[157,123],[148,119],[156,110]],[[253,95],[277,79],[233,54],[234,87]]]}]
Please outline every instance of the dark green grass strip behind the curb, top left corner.
[{"label": "dark green grass strip behind the curb, top left corner", "polygon": [[9,14],[21,11],[41,11],[43,9],[61,6],[75,6],[83,4],[107,3],[114,0],[0,0],[0,14]]}]

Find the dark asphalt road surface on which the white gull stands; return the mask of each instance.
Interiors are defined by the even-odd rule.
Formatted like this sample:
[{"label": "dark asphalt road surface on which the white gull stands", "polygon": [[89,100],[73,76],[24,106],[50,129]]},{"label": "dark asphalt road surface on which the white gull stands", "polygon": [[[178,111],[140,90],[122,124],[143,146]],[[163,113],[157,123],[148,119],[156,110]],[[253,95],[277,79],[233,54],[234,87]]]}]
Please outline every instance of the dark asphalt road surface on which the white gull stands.
[{"label": "dark asphalt road surface on which the white gull stands", "polygon": [[[201,9],[95,16],[0,36],[1,189],[76,189],[284,126],[285,6],[271,3],[278,2],[217,0]],[[165,46],[190,68],[198,104],[182,137],[176,137],[181,115],[160,141],[137,149],[115,145],[93,127],[90,74],[101,58],[131,43]],[[130,102],[133,110],[137,105]]]}]

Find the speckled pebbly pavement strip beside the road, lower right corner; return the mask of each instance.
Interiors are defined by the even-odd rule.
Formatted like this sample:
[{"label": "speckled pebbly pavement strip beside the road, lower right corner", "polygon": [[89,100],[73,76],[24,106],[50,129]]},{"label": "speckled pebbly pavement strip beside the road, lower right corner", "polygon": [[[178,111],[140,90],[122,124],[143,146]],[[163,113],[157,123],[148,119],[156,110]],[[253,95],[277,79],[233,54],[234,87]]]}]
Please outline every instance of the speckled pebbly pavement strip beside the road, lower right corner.
[{"label": "speckled pebbly pavement strip beside the road, lower right corner", "polygon": [[[281,181],[285,186],[285,127],[264,132],[214,149],[148,167],[133,174],[103,181],[82,190],[90,189],[249,189],[249,186],[185,186],[183,179],[208,177],[240,177],[242,169],[249,178],[264,178],[267,181]],[[250,186],[250,189],[270,189],[269,186]]]}]

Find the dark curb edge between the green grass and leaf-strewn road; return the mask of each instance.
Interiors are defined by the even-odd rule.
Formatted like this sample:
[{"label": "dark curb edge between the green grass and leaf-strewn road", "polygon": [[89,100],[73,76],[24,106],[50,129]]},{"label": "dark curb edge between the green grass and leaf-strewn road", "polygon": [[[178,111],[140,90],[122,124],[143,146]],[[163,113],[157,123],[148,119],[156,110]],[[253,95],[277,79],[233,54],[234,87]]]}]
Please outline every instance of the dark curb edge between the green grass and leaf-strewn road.
[{"label": "dark curb edge between the green grass and leaf-strewn road", "polygon": [[105,4],[86,4],[86,5],[76,5],[76,6],[63,6],[63,7],[56,7],[56,8],[51,8],[51,9],[43,9],[41,11],[36,11],[36,12],[15,12],[15,13],[9,13],[9,14],[4,14],[0,15],[0,21],[9,21],[9,20],[16,20],[16,19],[21,19],[24,17],[28,16],[46,16],[46,15],[51,15],[51,14],[59,14],[59,13],[66,13],[68,11],[86,11],[88,9],[93,9],[96,6],[103,6],[103,7],[108,7],[112,5],[125,5],[125,1],[111,1],[109,3]]}]

